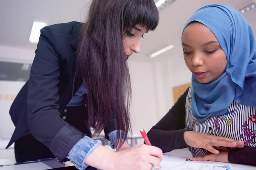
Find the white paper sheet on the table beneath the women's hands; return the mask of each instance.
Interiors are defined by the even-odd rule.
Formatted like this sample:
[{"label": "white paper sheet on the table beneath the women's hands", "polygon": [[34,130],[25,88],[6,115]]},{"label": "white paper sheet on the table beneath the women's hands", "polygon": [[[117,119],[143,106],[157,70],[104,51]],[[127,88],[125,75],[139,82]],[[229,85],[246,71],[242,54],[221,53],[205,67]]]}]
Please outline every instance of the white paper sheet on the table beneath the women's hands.
[{"label": "white paper sheet on the table beneath the women's hands", "polygon": [[[176,156],[164,156],[161,162],[161,170],[226,170],[224,165],[228,165],[220,162],[211,161],[186,161],[184,157]],[[241,167],[230,167],[230,170],[241,170]],[[249,170],[243,168],[243,170]]]}]

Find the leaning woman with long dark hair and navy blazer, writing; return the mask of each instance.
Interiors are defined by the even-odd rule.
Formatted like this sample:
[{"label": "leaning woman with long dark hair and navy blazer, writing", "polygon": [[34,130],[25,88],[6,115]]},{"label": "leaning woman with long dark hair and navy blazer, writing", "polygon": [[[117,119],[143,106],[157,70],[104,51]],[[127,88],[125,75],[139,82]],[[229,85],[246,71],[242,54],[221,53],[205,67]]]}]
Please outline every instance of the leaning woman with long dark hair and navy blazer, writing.
[{"label": "leaning woman with long dark hair and navy blazer, writing", "polygon": [[[79,169],[150,170],[162,151],[129,147],[128,57],[159,21],[153,0],[92,0],[85,23],[41,29],[29,80],[10,109],[17,162],[71,160]],[[114,152],[92,139],[103,129]]]}]

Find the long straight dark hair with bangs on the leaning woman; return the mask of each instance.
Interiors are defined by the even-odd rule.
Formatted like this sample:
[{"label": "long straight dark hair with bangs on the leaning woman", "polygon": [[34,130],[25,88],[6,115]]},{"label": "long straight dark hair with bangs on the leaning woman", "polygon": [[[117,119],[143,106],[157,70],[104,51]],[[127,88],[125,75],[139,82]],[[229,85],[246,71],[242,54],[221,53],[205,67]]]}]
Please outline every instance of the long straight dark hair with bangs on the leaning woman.
[{"label": "long straight dark hair with bangs on the leaning woman", "polygon": [[158,21],[153,0],[92,0],[80,33],[76,65],[87,88],[88,126],[96,134],[111,116],[116,117],[112,123],[116,123],[118,135],[124,130],[122,137],[127,137],[131,130],[131,82],[122,40],[136,25],[151,31]]}]

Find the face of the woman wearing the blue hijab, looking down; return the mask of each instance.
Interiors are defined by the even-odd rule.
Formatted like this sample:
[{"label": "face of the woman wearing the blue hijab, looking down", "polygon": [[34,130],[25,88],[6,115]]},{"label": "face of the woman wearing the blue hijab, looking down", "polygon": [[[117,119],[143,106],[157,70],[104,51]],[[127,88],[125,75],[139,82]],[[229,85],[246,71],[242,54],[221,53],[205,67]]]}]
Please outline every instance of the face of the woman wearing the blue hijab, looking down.
[{"label": "face of the woman wearing the blue hijab, looking down", "polygon": [[218,78],[227,65],[227,57],[212,31],[202,23],[190,23],[182,34],[184,60],[200,83]]}]

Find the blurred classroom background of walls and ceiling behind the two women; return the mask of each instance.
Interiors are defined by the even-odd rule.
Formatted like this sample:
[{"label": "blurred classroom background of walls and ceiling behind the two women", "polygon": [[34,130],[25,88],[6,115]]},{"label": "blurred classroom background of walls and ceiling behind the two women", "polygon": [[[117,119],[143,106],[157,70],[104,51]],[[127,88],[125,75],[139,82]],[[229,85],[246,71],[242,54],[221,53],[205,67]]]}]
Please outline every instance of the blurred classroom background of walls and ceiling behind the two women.
[{"label": "blurred classroom background of walls and ceiling behind the two women", "polygon": [[[140,54],[128,62],[132,80],[133,145],[143,143],[148,131],[190,85],[191,73],[183,61],[181,33],[186,20],[208,4],[233,6],[256,32],[253,0],[155,0],[160,23],[145,34]],[[15,129],[9,109],[29,79],[40,28],[70,21],[84,22],[90,0],[0,0],[0,161],[15,161],[13,145],[5,150]],[[33,28],[33,29],[32,29]],[[102,141],[105,142],[105,141]]]}]

